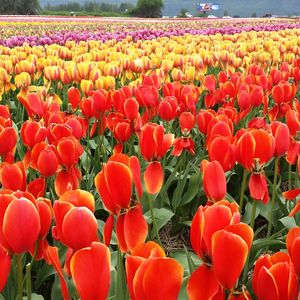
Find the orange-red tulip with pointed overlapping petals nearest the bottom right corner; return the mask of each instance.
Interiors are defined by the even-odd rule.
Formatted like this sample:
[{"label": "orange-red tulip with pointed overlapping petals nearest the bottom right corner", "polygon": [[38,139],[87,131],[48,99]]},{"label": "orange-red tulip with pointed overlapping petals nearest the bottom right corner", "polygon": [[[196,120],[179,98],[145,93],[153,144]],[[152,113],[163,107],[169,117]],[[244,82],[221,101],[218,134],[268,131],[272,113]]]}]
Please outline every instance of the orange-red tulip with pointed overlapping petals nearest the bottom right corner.
[{"label": "orange-red tulip with pointed overlapping petals nearest the bottom right corner", "polygon": [[261,256],[254,266],[252,286],[258,300],[297,299],[298,281],[288,254]]}]

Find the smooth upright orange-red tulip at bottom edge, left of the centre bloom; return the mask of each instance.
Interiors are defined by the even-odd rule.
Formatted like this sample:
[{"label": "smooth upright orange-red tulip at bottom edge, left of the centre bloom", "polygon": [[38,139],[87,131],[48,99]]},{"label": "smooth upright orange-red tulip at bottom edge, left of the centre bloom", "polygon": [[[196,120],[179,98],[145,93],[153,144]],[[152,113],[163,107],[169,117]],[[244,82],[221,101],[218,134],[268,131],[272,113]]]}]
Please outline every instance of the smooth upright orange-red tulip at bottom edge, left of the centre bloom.
[{"label": "smooth upright orange-red tulip at bottom edge, left of the centre bloom", "polygon": [[110,252],[105,245],[94,242],[90,247],[75,252],[70,266],[80,299],[107,298],[110,286]]}]

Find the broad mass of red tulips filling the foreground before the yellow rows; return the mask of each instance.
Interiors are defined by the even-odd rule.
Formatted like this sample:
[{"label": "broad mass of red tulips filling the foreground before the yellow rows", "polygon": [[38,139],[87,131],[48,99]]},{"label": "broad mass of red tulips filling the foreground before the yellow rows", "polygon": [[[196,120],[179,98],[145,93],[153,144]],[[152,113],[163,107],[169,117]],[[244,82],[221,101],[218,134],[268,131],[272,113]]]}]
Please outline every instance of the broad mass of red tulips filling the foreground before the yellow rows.
[{"label": "broad mass of red tulips filling the foreground before the yellow rows", "polygon": [[[31,298],[33,268],[48,264],[63,299],[106,299],[114,282],[120,299],[296,300],[299,70],[251,65],[200,87],[153,73],[62,95],[20,86],[17,109],[0,106],[0,292]],[[167,256],[156,213],[179,222],[191,190],[187,269]]]}]

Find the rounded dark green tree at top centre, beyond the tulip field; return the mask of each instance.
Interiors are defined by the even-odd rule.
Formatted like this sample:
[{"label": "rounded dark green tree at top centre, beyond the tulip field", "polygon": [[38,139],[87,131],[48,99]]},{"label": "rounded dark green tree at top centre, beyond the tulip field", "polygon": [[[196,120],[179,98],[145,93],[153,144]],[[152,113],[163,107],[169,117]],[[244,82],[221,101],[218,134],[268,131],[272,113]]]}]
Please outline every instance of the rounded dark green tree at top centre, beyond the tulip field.
[{"label": "rounded dark green tree at top centre, beyond the tulip field", "polygon": [[138,0],[134,15],[143,18],[159,18],[164,7],[162,0]]}]

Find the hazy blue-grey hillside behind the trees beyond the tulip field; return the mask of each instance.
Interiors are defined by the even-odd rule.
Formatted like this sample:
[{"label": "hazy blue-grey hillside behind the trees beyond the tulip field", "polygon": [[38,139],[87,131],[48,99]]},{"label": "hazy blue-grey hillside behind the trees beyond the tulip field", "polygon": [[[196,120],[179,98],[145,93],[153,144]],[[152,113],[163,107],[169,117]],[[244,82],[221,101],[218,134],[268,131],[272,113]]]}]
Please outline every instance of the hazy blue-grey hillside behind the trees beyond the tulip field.
[{"label": "hazy blue-grey hillside behind the trees beyond the tulip field", "polygon": [[[40,0],[41,6],[50,4],[61,4],[69,2],[83,3],[84,0]],[[114,4],[120,4],[122,2],[136,3],[136,0],[97,0],[97,2],[107,2]],[[164,0],[163,15],[174,16],[177,15],[182,8],[186,8],[192,14],[196,14],[197,4],[205,1],[195,0]],[[300,15],[300,0],[216,0],[208,1],[220,5],[219,11],[212,12],[214,15],[223,16],[226,10],[229,15],[238,15],[241,17],[249,17],[253,13],[257,16],[262,16],[266,13],[273,15],[288,16],[288,15]]]}]

